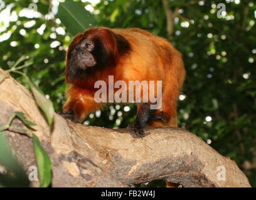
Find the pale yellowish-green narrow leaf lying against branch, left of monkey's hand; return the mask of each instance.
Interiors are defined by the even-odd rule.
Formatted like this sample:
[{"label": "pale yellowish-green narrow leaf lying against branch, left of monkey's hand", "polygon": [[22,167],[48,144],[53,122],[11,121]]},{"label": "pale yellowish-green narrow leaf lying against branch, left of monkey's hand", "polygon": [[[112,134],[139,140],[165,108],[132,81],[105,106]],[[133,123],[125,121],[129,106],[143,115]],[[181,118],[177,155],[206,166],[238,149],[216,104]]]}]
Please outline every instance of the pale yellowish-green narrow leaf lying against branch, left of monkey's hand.
[{"label": "pale yellowish-green narrow leaf lying against branch, left of monkey's hand", "polygon": [[43,113],[45,113],[48,124],[52,128],[54,119],[53,103],[50,99],[46,99],[45,95],[40,92],[40,89],[38,89],[38,87],[33,82],[29,81],[29,85],[33,96],[36,99],[36,103],[41,108]]}]

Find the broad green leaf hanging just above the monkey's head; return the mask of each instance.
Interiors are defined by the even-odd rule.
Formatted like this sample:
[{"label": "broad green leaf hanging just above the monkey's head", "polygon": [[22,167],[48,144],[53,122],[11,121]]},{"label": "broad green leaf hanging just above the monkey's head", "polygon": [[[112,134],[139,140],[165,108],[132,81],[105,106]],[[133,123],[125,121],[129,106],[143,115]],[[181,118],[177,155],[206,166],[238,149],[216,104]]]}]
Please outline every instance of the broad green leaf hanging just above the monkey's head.
[{"label": "broad green leaf hanging just above the monkey's head", "polygon": [[57,17],[73,36],[97,24],[92,14],[82,4],[74,1],[61,2]]}]

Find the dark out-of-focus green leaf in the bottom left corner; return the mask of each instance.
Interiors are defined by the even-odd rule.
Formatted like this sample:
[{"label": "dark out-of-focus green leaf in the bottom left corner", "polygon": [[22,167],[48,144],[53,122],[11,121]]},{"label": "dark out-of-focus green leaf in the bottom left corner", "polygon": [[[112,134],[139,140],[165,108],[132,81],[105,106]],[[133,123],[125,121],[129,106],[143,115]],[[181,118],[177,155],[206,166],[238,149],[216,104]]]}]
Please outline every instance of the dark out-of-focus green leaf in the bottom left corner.
[{"label": "dark out-of-focus green leaf in the bottom left corner", "polygon": [[28,176],[9,149],[2,131],[0,131],[0,163],[8,171],[0,174],[0,187],[29,187]]}]

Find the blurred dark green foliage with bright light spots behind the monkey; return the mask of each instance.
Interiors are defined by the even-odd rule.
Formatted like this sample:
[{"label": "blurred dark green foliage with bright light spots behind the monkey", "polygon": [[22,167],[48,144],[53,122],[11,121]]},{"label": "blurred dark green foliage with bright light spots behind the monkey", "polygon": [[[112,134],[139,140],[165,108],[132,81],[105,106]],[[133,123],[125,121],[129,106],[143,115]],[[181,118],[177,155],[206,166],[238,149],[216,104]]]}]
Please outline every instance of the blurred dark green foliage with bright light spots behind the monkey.
[{"label": "blurred dark green foliage with bright light spots behind the monkey", "polygon": [[[0,67],[9,69],[28,55],[33,64],[22,71],[53,101],[56,111],[65,102],[65,52],[73,38],[58,17],[60,2],[0,0]],[[179,126],[235,160],[255,187],[256,2],[76,2],[90,12],[96,26],[139,27],[174,44],[183,54],[187,72],[179,96]],[[26,86],[22,76],[12,75]],[[135,116],[134,105],[110,105],[91,113],[84,124],[125,128]],[[156,181],[148,186],[164,184]]]}]

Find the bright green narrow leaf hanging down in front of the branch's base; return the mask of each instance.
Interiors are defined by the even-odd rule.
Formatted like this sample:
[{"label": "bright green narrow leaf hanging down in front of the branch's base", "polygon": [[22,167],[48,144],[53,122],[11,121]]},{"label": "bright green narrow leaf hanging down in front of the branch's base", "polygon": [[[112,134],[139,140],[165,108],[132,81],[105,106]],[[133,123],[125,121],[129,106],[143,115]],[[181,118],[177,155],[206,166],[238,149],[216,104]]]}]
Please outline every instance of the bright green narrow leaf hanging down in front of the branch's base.
[{"label": "bright green narrow leaf hanging down in front of the branch's base", "polygon": [[40,187],[48,187],[51,183],[51,161],[40,144],[39,139],[33,134],[33,144],[40,178]]}]

